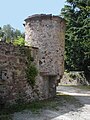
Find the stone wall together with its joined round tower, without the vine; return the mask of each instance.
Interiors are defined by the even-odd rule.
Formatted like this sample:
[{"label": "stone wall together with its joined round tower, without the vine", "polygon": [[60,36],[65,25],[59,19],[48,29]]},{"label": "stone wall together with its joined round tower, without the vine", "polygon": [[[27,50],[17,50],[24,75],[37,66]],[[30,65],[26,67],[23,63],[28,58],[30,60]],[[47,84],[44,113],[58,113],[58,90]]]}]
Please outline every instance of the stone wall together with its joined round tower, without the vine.
[{"label": "stone wall together with its joined round tower, without the vine", "polygon": [[[0,104],[54,97],[57,80],[64,73],[65,21],[41,14],[25,22],[26,46],[0,42]],[[33,88],[26,77],[26,49],[31,51],[38,69]]]}]

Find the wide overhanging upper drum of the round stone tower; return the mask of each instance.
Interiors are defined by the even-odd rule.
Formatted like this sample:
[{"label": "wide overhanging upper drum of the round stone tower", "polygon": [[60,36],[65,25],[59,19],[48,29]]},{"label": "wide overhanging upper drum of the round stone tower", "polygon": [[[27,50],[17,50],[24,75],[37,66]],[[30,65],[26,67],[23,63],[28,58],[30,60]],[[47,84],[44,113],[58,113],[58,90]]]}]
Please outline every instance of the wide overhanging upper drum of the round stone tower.
[{"label": "wide overhanging upper drum of the round stone tower", "polygon": [[64,73],[65,20],[59,16],[33,15],[25,19],[26,45],[39,49],[39,72],[58,79]]}]

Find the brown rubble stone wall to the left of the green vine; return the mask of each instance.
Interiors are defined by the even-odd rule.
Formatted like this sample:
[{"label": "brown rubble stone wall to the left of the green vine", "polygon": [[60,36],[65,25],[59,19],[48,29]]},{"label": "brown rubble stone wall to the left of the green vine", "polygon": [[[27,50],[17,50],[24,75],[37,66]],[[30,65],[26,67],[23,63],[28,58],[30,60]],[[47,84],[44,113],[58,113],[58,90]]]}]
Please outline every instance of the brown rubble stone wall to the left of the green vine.
[{"label": "brown rubble stone wall to the left of the green vine", "polygon": [[0,96],[4,102],[22,99],[26,89],[31,89],[25,77],[24,49],[0,42]]}]

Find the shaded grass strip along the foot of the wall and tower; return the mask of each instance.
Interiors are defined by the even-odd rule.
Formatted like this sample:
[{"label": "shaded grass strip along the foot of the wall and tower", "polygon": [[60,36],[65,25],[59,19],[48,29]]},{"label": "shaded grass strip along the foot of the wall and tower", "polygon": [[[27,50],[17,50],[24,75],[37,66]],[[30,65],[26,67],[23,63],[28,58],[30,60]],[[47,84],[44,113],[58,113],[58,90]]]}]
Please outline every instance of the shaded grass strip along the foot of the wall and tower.
[{"label": "shaded grass strip along the foot of the wall and tower", "polygon": [[66,106],[67,104],[74,104],[77,108],[81,107],[79,101],[74,97],[57,93],[57,96],[53,99],[7,106],[0,112],[0,120],[12,120],[11,115],[13,115],[13,113],[21,112],[23,110],[30,110],[33,113],[39,113],[42,109],[59,110],[60,107]]}]

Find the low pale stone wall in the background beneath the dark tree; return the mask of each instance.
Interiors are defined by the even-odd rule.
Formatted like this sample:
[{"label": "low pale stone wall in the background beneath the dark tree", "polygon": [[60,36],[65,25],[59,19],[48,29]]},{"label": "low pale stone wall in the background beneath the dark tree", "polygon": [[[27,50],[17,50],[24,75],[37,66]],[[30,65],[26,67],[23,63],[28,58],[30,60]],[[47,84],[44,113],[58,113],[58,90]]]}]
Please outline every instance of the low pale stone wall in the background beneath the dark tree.
[{"label": "low pale stone wall in the background beneath the dark tree", "polygon": [[83,71],[64,72],[60,85],[90,85]]}]

